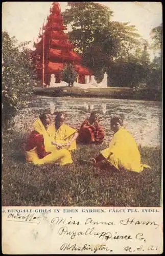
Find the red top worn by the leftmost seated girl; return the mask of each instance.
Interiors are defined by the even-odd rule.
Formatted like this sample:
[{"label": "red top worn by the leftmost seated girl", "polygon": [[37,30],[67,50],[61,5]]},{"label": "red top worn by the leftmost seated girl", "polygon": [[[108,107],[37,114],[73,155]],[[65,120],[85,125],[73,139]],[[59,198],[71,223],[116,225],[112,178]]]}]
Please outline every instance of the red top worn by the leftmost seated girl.
[{"label": "red top worn by the leftmost seated girl", "polygon": [[36,131],[32,131],[32,133],[28,138],[25,150],[30,151],[35,146],[37,146],[36,151],[39,158],[43,158],[52,153],[52,152],[45,152],[43,135],[39,134]]}]

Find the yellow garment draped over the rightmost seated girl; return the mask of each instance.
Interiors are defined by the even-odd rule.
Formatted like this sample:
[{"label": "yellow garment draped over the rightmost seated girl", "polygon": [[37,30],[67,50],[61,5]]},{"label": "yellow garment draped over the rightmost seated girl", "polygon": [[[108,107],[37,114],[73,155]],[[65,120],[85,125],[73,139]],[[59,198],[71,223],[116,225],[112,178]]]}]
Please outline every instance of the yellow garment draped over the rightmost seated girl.
[{"label": "yellow garment draped over the rightmost seated girl", "polygon": [[118,170],[142,172],[148,165],[141,164],[140,153],[132,135],[124,127],[117,131],[109,147],[101,151],[101,154]]}]

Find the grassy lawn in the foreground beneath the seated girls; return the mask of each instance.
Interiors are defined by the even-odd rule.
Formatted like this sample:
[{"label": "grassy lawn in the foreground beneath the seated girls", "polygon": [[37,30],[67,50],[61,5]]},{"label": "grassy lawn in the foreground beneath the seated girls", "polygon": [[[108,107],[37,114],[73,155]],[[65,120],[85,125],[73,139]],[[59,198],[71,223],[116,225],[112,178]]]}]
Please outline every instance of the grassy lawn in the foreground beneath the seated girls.
[{"label": "grassy lawn in the foreground beneath the seated girls", "polygon": [[160,148],[139,147],[152,170],[98,175],[81,159],[96,156],[104,144],[78,145],[74,163],[62,167],[26,163],[24,141],[15,132],[3,135],[3,206],[160,206]]}]

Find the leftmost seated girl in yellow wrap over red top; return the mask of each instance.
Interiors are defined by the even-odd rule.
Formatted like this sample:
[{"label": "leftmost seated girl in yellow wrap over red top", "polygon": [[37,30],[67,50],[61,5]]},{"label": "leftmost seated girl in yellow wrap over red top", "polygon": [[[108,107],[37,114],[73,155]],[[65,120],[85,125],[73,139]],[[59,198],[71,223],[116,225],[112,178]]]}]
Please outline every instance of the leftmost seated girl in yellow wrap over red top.
[{"label": "leftmost seated girl in yellow wrap over red top", "polygon": [[34,131],[30,134],[25,148],[26,160],[34,164],[55,162],[64,165],[72,163],[73,160],[69,151],[64,148],[61,150],[57,150],[56,147],[53,148],[52,139],[48,133],[50,121],[48,114],[40,114],[33,123]]}]

